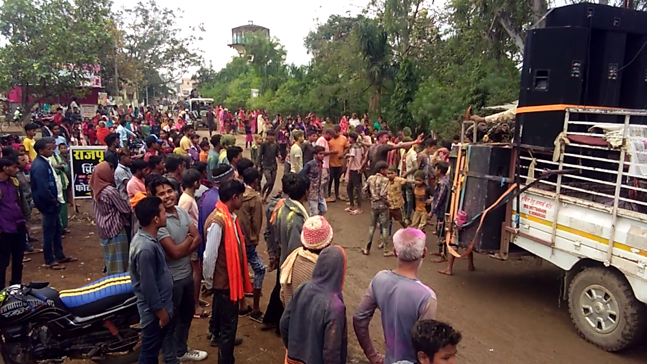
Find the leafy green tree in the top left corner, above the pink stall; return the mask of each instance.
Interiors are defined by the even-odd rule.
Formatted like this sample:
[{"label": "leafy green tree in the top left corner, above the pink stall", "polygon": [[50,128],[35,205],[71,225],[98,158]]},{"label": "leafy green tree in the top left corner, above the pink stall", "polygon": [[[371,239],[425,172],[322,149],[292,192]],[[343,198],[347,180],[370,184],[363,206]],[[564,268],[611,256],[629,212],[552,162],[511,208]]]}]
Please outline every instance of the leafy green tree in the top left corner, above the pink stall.
[{"label": "leafy green tree in the top left corner, above the pink stall", "polygon": [[109,0],[5,0],[0,6],[0,89],[35,100],[83,95],[88,75],[113,45]]}]

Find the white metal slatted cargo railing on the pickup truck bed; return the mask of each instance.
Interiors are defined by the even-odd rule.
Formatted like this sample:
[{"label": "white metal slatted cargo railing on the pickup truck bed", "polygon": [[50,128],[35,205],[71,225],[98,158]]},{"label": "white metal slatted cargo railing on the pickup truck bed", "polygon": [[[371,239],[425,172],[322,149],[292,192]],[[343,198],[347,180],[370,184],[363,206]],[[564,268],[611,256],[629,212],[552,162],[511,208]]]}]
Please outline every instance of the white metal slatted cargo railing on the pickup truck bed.
[{"label": "white metal slatted cargo railing on the pickup truck bed", "polygon": [[554,154],[519,151],[521,183],[533,181],[543,170],[579,170],[542,179],[535,186],[554,192],[556,214],[565,199],[611,214],[609,261],[618,215],[647,222],[647,111],[566,109],[564,130],[555,145]]}]

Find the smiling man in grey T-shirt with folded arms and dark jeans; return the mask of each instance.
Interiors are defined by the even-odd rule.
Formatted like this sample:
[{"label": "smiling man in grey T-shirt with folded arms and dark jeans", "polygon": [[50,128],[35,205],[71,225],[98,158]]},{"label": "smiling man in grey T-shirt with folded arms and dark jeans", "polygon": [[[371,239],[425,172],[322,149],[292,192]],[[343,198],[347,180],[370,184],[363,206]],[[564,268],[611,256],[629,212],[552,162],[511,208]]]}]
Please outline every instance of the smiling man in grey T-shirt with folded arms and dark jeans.
[{"label": "smiling man in grey T-shirt with folded arms and dark jeans", "polygon": [[162,356],[165,364],[180,361],[200,361],[207,353],[190,350],[187,346],[193,313],[195,313],[195,288],[190,255],[200,245],[200,234],[186,210],[175,206],[175,188],[164,178],[155,178],[147,188],[151,194],[162,199],[166,212],[166,227],[157,232],[157,240],[168,256],[168,267],[173,277],[173,308],[177,314],[171,320],[168,334],[164,337]]}]

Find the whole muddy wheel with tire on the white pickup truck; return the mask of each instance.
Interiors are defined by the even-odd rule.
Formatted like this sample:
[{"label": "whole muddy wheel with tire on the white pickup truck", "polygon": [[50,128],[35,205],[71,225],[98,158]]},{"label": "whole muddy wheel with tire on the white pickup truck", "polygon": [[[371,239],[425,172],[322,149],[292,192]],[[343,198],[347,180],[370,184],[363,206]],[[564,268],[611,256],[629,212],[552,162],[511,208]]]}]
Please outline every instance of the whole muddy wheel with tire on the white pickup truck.
[{"label": "whole muddy wheel with tire on the white pickup truck", "polygon": [[571,320],[582,338],[608,352],[640,343],[647,328],[646,306],[619,271],[589,267],[568,291]]}]

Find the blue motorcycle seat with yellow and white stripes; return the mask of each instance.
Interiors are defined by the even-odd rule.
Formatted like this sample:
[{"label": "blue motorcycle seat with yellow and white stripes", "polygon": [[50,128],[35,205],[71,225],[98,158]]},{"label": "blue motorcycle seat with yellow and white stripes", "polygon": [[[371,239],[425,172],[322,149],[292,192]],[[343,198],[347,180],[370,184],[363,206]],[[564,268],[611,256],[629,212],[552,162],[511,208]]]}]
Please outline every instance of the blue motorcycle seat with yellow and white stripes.
[{"label": "blue motorcycle seat with yellow and white stripes", "polygon": [[134,295],[129,273],[109,275],[85,286],[59,292],[61,302],[78,317],[105,312]]}]

